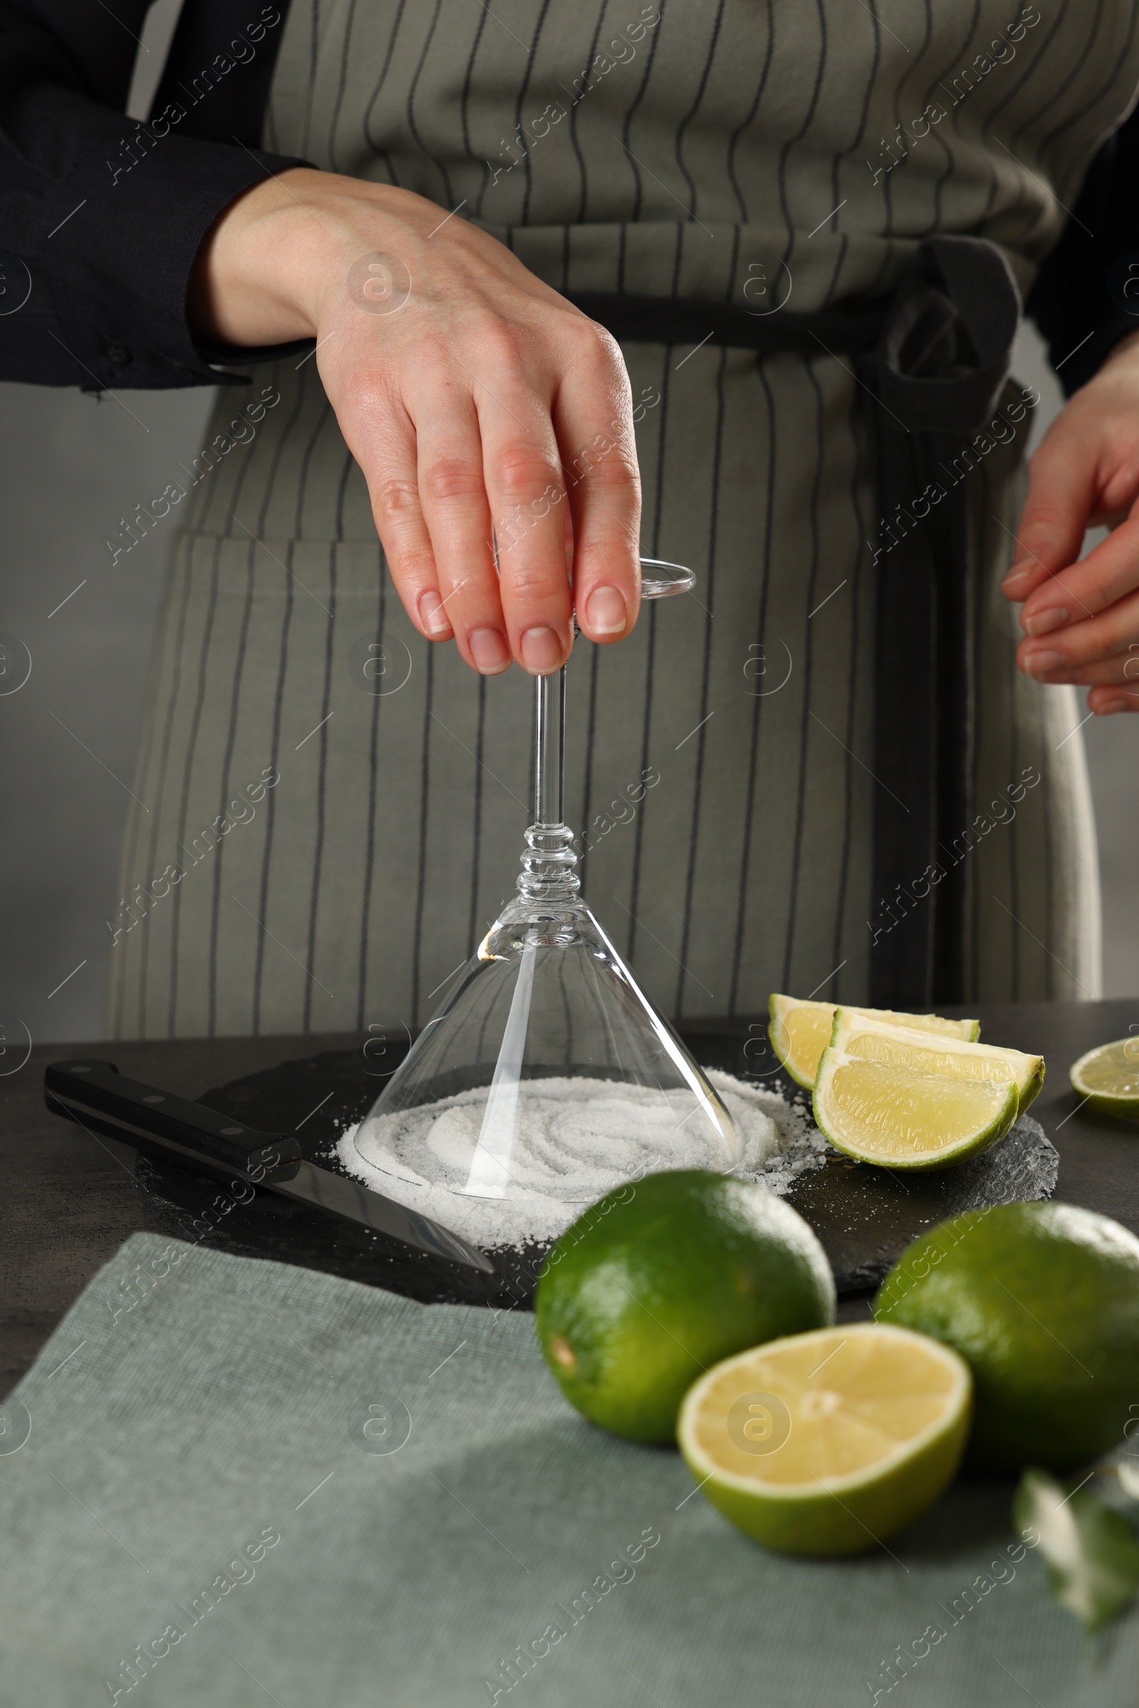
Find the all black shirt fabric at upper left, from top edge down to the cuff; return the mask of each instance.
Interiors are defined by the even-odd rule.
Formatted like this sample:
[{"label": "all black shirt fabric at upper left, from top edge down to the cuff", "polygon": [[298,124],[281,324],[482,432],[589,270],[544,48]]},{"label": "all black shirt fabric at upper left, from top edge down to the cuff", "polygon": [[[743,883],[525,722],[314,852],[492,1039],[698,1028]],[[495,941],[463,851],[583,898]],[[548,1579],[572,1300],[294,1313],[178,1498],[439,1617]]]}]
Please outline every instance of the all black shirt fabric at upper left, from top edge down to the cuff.
[{"label": "all black shirt fabric at upper left, from top edge down to the cuff", "polygon": [[113,12],[0,0],[0,377],[84,391],[237,384],[210,362],[306,347],[208,350],[186,321],[190,272],[219,214],[307,164],[249,140],[285,3],[186,0],[140,125],[123,108],[147,0]]}]

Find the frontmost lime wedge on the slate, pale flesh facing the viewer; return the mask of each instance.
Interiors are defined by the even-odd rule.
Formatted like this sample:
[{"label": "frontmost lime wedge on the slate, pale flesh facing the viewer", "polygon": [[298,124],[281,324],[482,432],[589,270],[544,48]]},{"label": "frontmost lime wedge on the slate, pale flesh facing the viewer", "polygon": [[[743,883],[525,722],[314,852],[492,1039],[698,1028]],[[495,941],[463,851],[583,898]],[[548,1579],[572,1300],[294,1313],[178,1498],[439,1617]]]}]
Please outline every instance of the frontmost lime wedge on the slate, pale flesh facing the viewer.
[{"label": "frontmost lime wedge on the slate, pale flesh facing the viewer", "polygon": [[958,1079],[900,1062],[823,1050],[815,1122],[847,1156],[886,1168],[944,1168],[1002,1139],[1016,1120],[1013,1079]]}]

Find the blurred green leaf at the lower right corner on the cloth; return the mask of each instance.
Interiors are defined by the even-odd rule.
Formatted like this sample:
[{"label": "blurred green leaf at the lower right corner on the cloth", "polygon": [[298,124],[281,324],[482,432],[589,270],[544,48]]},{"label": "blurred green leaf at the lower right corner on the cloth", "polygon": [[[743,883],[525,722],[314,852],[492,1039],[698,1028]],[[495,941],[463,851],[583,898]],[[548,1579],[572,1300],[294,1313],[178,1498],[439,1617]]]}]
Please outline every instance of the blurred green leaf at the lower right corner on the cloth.
[{"label": "blurred green leaf at the lower right corner on the cloth", "polygon": [[1013,1498],[1013,1524],[1037,1544],[1059,1604],[1088,1631],[1101,1631],[1139,1588],[1139,1542],[1122,1512],[1091,1489],[1066,1489],[1047,1471],[1028,1469]]}]

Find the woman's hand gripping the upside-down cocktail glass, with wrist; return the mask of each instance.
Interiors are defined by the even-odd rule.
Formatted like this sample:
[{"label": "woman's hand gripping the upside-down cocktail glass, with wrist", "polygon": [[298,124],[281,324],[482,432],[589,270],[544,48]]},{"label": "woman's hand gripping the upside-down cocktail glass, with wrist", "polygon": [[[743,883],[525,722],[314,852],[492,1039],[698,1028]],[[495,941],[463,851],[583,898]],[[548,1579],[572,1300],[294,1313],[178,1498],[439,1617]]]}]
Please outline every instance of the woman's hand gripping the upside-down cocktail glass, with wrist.
[{"label": "woman's hand gripping the upside-down cocktail glass, with wrist", "polygon": [[548,675],[569,656],[574,606],[591,640],[634,627],[640,483],[625,364],[487,232],[406,190],[294,167],[217,220],[190,307],[207,340],[318,340],[420,634],[454,637],[483,675],[512,658]]}]

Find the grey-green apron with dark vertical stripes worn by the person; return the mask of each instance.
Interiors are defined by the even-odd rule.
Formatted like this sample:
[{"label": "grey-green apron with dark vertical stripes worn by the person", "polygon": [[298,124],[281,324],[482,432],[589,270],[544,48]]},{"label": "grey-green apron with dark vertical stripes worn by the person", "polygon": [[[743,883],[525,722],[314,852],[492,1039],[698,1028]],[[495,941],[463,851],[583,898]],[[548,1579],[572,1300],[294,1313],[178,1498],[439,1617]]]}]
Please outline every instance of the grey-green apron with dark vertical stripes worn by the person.
[{"label": "grey-green apron with dark vertical stripes worn by the person", "polygon": [[[929,499],[879,514],[842,350],[700,342],[693,316],[857,311],[937,232],[989,239],[1026,292],[1139,84],[1136,26],[1136,0],[895,0],[888,24],[294,0],[266,147],[459,208],[567,294],[683,309],[622,347],[642,552],[698,584],[577,642],[567,728],[584,893],[673,1018],[866,1001],[932,883],[879,895],[871,854],[876,588]],[[415,634],[312,360],[236,396],[176,500],[108,1032],[415,1032],[512,892],[531,683]],[[973,808],[943,840],[967,1001],[1098,994],[1081,711],[1016,671],[999,594],[1033,408],[1011,381],[944,471],[975,562]]]}]

